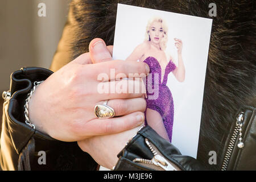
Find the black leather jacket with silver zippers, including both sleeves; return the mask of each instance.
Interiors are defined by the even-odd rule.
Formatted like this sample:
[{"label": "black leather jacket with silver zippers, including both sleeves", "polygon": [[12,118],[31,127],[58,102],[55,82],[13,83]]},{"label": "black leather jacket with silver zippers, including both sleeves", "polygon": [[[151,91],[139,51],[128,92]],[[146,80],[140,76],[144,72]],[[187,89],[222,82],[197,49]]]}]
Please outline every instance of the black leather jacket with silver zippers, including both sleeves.
[{"label": "black leather jacket with silver zippers, including both sleeves", "polygon": [[[22,68],[11,75],[10,94],[3,94],[3,123],[0,162],[3,170],[96,170],[98,165],[76,142],[60,142],[24,123],[23,105],[34,81],[46,80],[52,72],[43,68]],[[227,169],[255,169],[255,109],[248,107],[243,115],[242,149],[237,147],[236,122],[230,129],[233,150]],[[232,132],[231,132],[232,131]],[[236,136],[234,136],[236,135]],[[230,148],[230,139],[225,148]],[[226,150],[226,149],[225,149]],[[46,164],[39,164],[39,151],[46,151]],[[158,155],[155,155],[157,152]],[[115,170],[203,170],[196,159],[183,156],[171,143],[143,127],[118,154]],[[141,159],[141,160],[138,160]],[[154,160],[151,160],[154,159]],[[149,161],[154,161],[154,163]],[[225,159],[228,160],[228,159]]]}]

